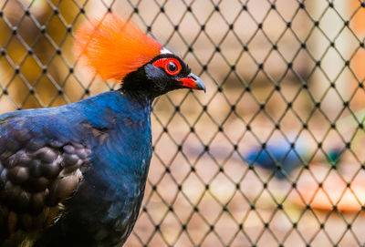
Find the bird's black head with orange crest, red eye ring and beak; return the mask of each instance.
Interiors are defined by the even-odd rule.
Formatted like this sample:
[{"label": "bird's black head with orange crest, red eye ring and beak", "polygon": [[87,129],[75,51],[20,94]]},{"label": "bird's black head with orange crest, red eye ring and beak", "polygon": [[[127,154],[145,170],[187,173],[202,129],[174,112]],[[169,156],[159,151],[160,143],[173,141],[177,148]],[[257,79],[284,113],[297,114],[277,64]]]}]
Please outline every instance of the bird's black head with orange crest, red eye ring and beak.
[{"label": "bird's black head with orange crest, red eye ring and beak", "polygon": [[126,92],[157,97],[179,88],[205,91],[183,59],[116,15],[90,20],[75,37],[84,62],[104,80],[120,81]]}]

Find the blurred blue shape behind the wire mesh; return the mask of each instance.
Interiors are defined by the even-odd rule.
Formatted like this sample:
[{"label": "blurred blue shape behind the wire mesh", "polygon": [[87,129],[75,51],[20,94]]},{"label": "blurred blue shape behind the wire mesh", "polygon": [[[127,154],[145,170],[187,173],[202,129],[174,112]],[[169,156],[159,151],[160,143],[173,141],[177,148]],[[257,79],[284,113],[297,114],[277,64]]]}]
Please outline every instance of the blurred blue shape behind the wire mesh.
[{"label": "blurred blue shape behind the wire mesh", "polygon": [[292,171],[308,161],[308,147],[304,139],[290,142],[281,137],[269,139],[262,145],[256,145],[244,154],[249,167],[257,165],[271,170],[278,180],[286,179]]}]

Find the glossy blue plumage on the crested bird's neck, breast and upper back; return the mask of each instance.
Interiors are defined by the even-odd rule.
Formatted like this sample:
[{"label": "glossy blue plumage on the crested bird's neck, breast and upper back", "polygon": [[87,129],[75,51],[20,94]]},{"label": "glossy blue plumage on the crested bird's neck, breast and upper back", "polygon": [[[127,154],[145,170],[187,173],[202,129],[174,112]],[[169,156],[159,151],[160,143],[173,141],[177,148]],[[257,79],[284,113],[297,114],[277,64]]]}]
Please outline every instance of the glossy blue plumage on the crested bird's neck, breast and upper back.
[{"label": "glossy blue plumage on the crested bird's neck, breast and upper back", "polygon": [[[92,246],[97,241],[111,246],[126,240],[137,219],[151,160],[150,112],[151,100],[113,91],[63,107],[1,116],[1,140],[12,141],[13,128],[31,129],[31,140],[41,145],[76,142],[91,150],[92,165],[77,192],[36,246]],[[99,236],[102,231],[111,236],[108,242]]]}]

